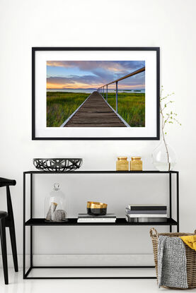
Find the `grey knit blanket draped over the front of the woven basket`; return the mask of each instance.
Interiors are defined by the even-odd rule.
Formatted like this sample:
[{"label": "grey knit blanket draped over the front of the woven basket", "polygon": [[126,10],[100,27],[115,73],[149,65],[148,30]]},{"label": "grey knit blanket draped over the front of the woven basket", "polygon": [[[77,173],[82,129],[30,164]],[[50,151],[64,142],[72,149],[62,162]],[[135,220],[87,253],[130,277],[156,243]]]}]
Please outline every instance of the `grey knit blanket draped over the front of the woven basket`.
[{"label": "grey knit blanket draped over the front of the woven basket", "polygon": [[185,245],[178,237],[158,237],[158,287],[188,288]]}]

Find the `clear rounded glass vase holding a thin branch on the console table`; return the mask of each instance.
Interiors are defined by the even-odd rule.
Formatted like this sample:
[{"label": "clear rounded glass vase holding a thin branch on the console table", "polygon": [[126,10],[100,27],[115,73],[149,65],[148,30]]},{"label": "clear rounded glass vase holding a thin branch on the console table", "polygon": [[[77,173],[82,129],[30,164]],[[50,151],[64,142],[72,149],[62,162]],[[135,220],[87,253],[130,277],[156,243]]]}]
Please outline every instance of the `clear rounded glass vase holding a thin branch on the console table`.
[{"label": "clear rounded glass vase holding a thin branch on the console table", "polygon": [[152,153],[153,165],[158,171],[171,171],[176,164],[175,151],[165,141],[162,138]]}]

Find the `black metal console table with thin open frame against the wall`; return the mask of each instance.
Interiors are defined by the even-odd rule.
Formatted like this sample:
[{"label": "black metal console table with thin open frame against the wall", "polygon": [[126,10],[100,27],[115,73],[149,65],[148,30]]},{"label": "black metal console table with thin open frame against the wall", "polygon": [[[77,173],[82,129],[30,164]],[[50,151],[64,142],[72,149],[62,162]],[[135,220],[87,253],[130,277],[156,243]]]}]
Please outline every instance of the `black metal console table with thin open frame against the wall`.
[{"label": "black metal console table with thin open frame against the wall", "polygon": [[[77,218],[70,218],[68,222],[45,222],[44,218],[34,218],[33,217],[33,175],[34,174],[64,174],[65,176],[76,176],[79,174],[114,174],[114,176],[120,176],[120,174],[166,174],[169,181],[169,212],[170,217],[168,217],[167,222],[138,222],[130,223],[125,220],[125,218],[117,218],[115,223],[78,223]],[[30,218],[26,219],[26,176],[30,175]],[[172,177],[175,176],[176,183],[176,218],[173,219],[172,215]],[[35,277],[29,276],[30,272],[34,268],[46,269],[46,268],[154,268],[154,266],[35,266],[33,265],[33,227],[35,226],[135,226],[135,225],[168,225],[170,227],[170,232],[172,232],[172,227],[177,227],[177,232],[179,232],[179,173],[178,171],[74,171],[74,172],[42,172],[42,171],[28,171],[23,172],[23,279],[155,279],[156,277]],[[26,240],[26,227],[30,227],[30,267],[26,271],[26,249],[25,249],[25,240]]]}]

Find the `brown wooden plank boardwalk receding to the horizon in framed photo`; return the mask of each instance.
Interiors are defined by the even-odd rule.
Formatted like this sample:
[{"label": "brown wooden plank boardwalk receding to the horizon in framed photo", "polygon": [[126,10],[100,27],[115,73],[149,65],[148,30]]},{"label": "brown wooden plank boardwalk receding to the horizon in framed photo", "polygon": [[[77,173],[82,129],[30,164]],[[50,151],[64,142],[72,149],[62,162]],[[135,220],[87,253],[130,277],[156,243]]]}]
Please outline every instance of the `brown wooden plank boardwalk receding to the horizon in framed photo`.
[{"label": "brown wooden plank boardwalk receding to the horizon in framed photo", "polygon": [[93,92],[64,127],[127,127],[99,92]]}]

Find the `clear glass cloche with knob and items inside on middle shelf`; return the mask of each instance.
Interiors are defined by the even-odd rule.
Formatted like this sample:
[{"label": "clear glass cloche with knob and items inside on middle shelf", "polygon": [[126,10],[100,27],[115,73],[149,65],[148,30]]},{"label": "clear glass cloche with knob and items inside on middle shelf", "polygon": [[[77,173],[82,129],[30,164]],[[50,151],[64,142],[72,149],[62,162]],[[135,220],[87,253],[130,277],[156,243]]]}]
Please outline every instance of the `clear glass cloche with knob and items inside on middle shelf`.
[{"label": "clear glass cloche with knob and items inside on middle shelf", "polygon": [[50,222],[67,222],[67,205],[59,184],[54,184],[50,196],[45,198],[45,220]]}]

